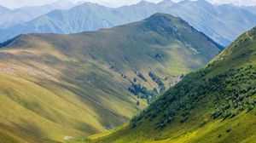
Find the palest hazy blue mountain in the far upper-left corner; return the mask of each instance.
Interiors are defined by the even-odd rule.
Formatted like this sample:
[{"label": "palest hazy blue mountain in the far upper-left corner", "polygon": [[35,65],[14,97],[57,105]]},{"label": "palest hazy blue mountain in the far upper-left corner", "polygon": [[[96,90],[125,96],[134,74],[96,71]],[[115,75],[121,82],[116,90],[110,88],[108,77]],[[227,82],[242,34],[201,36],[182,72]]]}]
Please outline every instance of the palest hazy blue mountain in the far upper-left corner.
[{"label": "palest hazy blue mountain in the far upper-left corner", "polygon": [[45,4],[43,6],[24,7],[20,9],[5,10],[0,7],[0,29],[9,28],[21,23],[33,20],[40,15],[47,14],[55,9],[70,9],[77,5],[67,0],[60,0],[55,3]]}]

